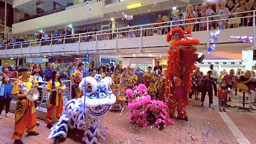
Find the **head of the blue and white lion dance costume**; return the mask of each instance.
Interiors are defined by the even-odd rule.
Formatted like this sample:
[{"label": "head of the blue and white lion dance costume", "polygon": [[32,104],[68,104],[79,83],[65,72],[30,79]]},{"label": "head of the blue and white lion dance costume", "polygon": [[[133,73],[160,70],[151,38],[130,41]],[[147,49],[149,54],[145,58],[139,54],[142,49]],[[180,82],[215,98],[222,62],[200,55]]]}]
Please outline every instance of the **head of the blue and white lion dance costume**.
[{"label": "head of the blue and white lion dance costume", "polygon": [[111,81],[111,77],[106,77],[100,81],[93,77],[85,77],[79,84],[79,89],[84,91],[82,99],[85,98],[85,106],[89,109],[89,114],[102,116],[116,102],[116,97],[110,89]]}]

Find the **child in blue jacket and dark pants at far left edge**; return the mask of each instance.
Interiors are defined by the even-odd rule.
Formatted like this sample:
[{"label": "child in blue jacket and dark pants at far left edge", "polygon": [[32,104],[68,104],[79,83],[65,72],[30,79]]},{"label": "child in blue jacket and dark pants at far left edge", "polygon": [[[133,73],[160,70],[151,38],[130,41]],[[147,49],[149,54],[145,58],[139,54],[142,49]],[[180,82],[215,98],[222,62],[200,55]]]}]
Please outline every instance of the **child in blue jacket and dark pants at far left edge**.
[{"label": "child in blue jacket and dark pants at far left edge", "polygon": [[10,83],[10,78],[8,76],[3,76],[2,82],[0,82],[0,118],[5,106],[5,117],[10,117],[9,109],[10,103],[13,98],[12,94],[12,83]]}]

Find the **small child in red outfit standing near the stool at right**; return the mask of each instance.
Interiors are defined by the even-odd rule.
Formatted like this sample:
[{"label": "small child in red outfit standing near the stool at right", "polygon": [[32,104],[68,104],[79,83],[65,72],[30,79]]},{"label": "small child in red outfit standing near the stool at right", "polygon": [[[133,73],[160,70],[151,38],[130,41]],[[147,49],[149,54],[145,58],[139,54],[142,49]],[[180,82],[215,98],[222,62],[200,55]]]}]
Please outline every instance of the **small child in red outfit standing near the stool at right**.
[{"label": "small child in red outfit standing near the stool at right", "polygon": [[[230,93],[230,89],[227,87],[226,82],[221,82],[218,89],[219,111],[226,112],[225,108],[227,106],[228,93]],[[222,110],[221,107],[223,107]]]}]

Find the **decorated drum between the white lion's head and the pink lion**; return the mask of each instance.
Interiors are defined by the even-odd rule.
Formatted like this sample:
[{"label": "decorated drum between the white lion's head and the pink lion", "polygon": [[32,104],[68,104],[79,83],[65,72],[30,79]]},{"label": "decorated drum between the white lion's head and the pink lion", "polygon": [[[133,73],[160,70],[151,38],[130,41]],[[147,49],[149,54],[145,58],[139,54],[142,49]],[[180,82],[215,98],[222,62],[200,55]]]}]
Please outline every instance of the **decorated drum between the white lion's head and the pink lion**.
[{"label": "decorated drum between the white lion's head and the pink lion", "polygon": [[116,101],[126,101],[126,86],[125,85],[119,85],[119,84],[113,84],[110,86],[110,89],[112,90],[113,94],[116,95]]}]

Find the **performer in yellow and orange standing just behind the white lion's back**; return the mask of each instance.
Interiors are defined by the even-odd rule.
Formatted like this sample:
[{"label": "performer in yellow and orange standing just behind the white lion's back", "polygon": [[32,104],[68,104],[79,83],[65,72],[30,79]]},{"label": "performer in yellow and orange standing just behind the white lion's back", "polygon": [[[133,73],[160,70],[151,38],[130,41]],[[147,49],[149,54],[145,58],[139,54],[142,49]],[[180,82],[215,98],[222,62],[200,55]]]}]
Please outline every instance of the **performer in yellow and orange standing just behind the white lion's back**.
[{"label": "performer in yellow and orange standing just behind the white lion's back", "polygon": [[[83,93],[82,91],[79,89],[79,83],[82,81],[82,79],[84,78],[82,70],[84,69],[84,64],[83,63],[78,63],[77,65],[77,70],[75,71],[75,73],[73,73],[69,79],[71,81],[72,84],[72,98],[81,98]],[[75,81],[74,81],[75,80]]]}]

